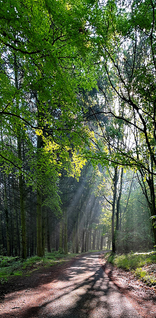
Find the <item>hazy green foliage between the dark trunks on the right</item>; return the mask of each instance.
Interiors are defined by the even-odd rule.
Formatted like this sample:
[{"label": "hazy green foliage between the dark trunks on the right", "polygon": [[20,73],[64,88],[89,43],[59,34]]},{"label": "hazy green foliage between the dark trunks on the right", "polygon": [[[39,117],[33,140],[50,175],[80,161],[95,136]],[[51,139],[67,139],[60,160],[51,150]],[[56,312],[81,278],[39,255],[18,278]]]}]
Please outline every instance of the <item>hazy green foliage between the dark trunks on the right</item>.
[{"label": "hazy green foliage between the dark trunks on the right", "polygon": [[[127,171],[123,180],[123,191],[120,202],[121,230],[117,233],[117,252],[150,250],[154,246],[152,222],[147,201],[142,188],[132,174]],[[128,205],[127,200],[131,189]]]}]

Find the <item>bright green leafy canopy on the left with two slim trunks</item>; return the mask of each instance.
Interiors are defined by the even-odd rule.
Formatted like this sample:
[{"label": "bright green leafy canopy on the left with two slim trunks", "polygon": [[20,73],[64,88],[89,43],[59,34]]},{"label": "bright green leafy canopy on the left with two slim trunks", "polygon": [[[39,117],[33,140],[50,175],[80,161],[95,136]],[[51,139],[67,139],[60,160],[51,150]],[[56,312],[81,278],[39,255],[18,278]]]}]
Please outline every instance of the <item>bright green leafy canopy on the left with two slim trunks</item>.
[{"label": "bright green leafy canopy on the left with two slim trunks", "polygon": [[[52,187],[53,194],[57,193],[60,170],[64,167],[78,175],[85,162],[79,154],[88,132],[80,119],[77,91],[79,86],[93,84],[86,78],[89,59],[83,63],[90,50],[86,5],[81,1],[77,5],[68,1],[0,2],[0,115],[2,127],[12,137],[12,126],[17,138],[15,152],[1,143],[0,158],[7,173],[13,167],[18,171],[23,258],[23,182],[37,190],[37,252],[42,256],[42,196],[46,197],[44,204],[59,209],[58,194],[49,193]],[[82,134],[83,140],[79,138]],[[27,166],[22,156],[23,137],[29,143]]]}]

